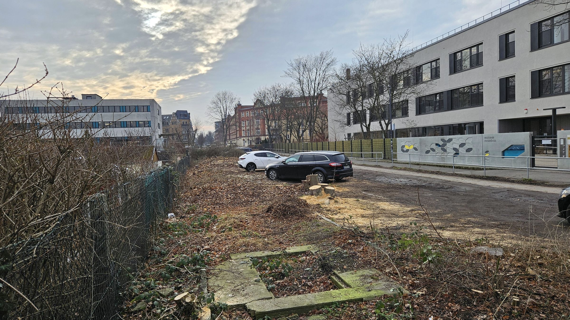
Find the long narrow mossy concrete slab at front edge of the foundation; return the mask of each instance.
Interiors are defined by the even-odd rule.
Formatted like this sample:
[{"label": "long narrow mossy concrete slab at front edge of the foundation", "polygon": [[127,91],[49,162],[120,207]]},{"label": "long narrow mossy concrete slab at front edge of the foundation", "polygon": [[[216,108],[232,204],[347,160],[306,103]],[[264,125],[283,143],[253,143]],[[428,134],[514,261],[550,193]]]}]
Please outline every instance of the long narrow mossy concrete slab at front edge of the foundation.
[{"label": "long narrow mossy concrete slab at front edge of the foundation", "polygon": [[303,314],[308,311],[320,309],[321,307],[332,305],[335,302],[354,302],[373,299],[374,297],[390,294],[390,290],[369,290],[364,288],[348,288],[299,294],[276,298],[271,300],[259,300],[246,304],[247,311],[255,319],[260,319],[266,315],[272,318],[286,317],[290,314]]}]

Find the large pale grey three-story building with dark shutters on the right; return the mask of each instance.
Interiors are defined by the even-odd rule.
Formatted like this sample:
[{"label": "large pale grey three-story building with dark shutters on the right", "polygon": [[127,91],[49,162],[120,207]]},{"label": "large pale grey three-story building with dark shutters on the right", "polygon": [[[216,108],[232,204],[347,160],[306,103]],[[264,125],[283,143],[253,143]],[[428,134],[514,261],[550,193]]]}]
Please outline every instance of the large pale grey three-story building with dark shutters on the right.
[{"label": "large pale grey three-story building with dark shutters on the right", "polygon": [[[416,48],[408,85],[429,83],[429,92],[394,101],[403,106],[397,137],[570,130],[569,15],[565,5],[516,1]],[[331,140],[362,136],[354,117],[338,112],[347,96],[329,94]],[[559,107],[552,128],[548,109]],[[371,129],[380,133],[378,122]]]}]

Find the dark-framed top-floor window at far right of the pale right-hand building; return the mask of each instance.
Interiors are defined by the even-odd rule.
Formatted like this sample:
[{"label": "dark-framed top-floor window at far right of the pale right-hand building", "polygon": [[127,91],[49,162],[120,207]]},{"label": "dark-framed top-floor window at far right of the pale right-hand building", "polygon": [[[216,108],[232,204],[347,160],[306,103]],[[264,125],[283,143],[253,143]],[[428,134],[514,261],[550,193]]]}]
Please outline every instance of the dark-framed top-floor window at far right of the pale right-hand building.
[{"label": "dark-framed top-floor window at far right of the pale right-hand building", "polygon": [[531,24],[531,51],[570,40],[570,12]]}]

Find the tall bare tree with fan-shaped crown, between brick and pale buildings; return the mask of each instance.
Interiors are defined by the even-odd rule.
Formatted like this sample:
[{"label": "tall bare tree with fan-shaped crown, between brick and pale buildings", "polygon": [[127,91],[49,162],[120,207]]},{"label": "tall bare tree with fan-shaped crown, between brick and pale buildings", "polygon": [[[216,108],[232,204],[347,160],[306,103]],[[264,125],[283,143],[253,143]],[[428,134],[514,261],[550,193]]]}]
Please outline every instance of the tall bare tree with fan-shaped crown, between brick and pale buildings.
[{"label": "tall bare tree with fan-shaped crown, between brick and pale buildings", "polygon": [[307,103],[304,120],[310,141],[313,141],[316,117],[319,108],[321,108],[321,99],[335,79],[336,61],[336,58],[332,56],[332,50],[321,51],[317,55],[299,56],[294,60],[287,61],[288,68],[284,76],[293,80],[298,95]]}]

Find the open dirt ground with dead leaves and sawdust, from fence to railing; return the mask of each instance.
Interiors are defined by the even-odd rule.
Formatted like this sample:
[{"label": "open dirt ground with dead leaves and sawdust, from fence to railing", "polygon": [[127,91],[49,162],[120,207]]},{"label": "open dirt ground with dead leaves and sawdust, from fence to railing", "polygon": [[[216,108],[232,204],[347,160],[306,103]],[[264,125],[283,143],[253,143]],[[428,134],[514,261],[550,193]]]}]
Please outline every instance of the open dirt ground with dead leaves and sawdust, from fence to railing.
[{"label": "open dirt ground with dead leaves and sawdust, from fence to railing", "polygon": [[[570,254],[563,241],[568,225],[551,219],[556,195],[364,170],[335,187],[336,199],[311,197],[298,180],[272,182],[262,171],[239,169],[231,158],[203,160],[182,181],[176,221],[160,225],[148,267],[125,292],[123,318],[195,319],[196,310],[207,305],[216,319],[251,319],[245,310],[224,310],[207,297],[184,306],[173,297],[200,292],[201,273],[231,253],[307,244],[321,251],[301,262],[289,261],[288,274],[273,270],[281,272],[269,282],[275,296],[328,290],[332,270],[364,268],[378,269],[409,292],[312,311],[324,319],[570,315],[564,281],[570,277]],[[291,197],[295,206],[285,206]],[[539,213],[529,215],[531,211]],[[548,231],[553,227],[559,237]],[[503,256],[471,253],[479,245],[500,246]],[[166,288],[172,293],[157,293]]]}]

